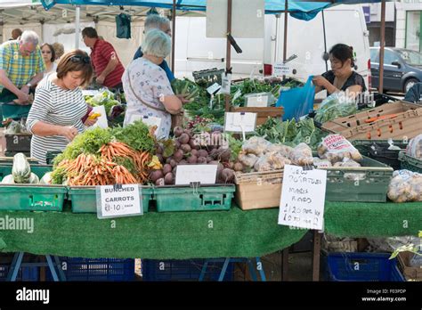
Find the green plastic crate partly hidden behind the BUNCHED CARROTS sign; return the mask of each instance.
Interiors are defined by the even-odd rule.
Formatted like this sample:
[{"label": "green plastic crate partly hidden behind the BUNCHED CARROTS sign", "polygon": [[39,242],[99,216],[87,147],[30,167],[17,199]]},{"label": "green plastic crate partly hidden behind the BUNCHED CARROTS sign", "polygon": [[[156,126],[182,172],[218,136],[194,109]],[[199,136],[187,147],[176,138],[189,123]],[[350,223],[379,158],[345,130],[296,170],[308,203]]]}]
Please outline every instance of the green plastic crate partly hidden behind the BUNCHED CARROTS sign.
[{"label": "green plastic crate partly hidden behind the BUNCHED CARROTS sign", "polygon": [[[143,213],[148,212],[152,200],[152,188],[142,186]],[[73,213],[97,213],[97,194],[95,186],[70,186],[68,197],[72,203]]]}]

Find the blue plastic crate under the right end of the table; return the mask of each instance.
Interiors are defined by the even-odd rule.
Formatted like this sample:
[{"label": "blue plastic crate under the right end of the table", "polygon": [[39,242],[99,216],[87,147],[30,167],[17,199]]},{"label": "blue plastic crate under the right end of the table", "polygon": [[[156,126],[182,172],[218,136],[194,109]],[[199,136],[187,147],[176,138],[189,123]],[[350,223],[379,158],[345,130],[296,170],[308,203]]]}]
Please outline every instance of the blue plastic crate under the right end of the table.
[{"label": "blue plastic crate under the right end of the table", "polygon": [[328,253],[329,281],[405,281],[397,260],[383,253]]}]

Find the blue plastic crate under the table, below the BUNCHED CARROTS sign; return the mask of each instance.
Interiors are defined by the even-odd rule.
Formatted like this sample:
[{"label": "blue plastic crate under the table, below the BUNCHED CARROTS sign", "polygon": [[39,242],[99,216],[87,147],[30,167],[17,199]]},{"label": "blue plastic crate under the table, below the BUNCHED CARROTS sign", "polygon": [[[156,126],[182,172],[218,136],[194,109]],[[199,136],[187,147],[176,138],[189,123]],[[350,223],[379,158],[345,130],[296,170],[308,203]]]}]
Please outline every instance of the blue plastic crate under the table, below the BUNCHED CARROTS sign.
[{"label": "blue plastic crate under the table, below the BUNCHED CARROTS sign", "polygon": [[[134,281],[134,259],[60,257],[66,281]],[[47,281],[53,281],[50,270]]]}]

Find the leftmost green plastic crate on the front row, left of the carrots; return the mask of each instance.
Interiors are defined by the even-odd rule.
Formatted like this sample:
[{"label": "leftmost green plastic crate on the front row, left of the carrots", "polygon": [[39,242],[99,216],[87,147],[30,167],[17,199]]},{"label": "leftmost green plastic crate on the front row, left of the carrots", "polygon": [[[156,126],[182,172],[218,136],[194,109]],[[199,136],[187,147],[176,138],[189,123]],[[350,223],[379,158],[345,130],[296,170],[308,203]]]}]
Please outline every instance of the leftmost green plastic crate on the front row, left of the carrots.
[{"label": "leftmost green plastic crate on the front row, left of the carrots", "polygon": [[39,184],[0,184],[0,210],[61,211],[65,186]]}]

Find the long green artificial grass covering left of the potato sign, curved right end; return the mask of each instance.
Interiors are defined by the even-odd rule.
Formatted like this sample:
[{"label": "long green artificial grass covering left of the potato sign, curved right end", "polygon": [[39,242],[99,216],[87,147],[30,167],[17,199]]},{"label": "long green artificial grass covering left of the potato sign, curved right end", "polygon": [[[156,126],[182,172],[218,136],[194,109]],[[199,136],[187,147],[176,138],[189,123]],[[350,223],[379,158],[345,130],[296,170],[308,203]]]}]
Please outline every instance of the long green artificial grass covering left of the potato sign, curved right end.
[{"label": "long green artificial grass covering left of the potato sign, curved right end", "polygon": [[2,211],[0,218],[33,218],[34,232],[0,230],[0,250],[69,257],[261,257],[300,241],[306,232],[277,224],[278,214],[277,208],[233,207],[100,220],[93,214]]}]

